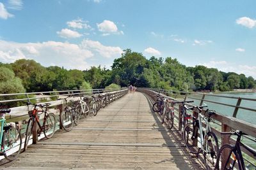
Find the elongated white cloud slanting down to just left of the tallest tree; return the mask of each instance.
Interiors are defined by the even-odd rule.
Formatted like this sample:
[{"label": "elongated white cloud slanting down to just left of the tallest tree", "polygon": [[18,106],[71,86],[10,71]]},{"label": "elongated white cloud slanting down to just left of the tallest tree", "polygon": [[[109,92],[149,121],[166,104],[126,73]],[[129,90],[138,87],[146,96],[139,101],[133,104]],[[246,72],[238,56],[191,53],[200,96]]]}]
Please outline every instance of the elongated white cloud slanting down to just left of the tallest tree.
[{"label": "elongated white cloud slanting down to just left of the tallest tree", "polygon": [[106,58],[120,57],[123,53],[123,50],[119,46],[104,46],[99,41],[92,41],[90,39],[84,39],[81,47],[92,52],[97,52]]}]

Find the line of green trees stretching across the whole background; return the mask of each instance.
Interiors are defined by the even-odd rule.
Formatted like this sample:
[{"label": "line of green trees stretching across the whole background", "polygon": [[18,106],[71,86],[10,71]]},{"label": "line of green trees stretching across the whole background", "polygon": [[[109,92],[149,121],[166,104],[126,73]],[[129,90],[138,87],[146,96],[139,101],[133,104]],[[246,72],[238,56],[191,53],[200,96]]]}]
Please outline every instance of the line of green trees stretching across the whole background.
[{"label": "line of green trees stretching across the whole background", "polygon": [[224,73],[205,66],[186,67],[172,57],[146,59],[141,53],[124,50],[112,69],[91,67],[80,71],[44,67],[35,60],[20,59],[0,63],[0,93],[52,90],[104,89],[115,83],[121,87],[152,87],[170,90],[255,89],[256,81],[244,74]]}]

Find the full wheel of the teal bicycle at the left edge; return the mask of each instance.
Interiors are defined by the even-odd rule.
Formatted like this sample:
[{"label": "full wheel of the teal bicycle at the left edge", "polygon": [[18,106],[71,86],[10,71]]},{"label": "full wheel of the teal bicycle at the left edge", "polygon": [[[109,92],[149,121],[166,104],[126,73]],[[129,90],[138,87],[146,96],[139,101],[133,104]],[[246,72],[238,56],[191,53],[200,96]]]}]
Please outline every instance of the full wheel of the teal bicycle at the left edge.
[{"label": "full wheel of the teal bicycle at the left edge", "polygon": [[18,157],[21,145],[22,139],[17,126],[10,127],[10,129],[4,131],[2,147],[4,149],[3,155],[7,160],[12,161]]}]

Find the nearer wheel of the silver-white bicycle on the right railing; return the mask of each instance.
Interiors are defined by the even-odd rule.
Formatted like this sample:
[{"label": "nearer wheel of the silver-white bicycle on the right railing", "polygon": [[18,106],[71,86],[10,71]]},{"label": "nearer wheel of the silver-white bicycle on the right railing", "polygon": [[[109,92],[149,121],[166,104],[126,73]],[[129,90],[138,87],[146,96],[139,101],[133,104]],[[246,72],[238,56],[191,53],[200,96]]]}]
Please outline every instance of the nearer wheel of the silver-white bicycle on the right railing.
[{"label": "nearer wheel of the silver-white bicycle on the right railing", "polygon": [[213,132],[208,132],[205,136],[205,152],[204,152],[204,164],[206,169],[214,169],[217,162],[217,155],[219,152],[218,139]]}]

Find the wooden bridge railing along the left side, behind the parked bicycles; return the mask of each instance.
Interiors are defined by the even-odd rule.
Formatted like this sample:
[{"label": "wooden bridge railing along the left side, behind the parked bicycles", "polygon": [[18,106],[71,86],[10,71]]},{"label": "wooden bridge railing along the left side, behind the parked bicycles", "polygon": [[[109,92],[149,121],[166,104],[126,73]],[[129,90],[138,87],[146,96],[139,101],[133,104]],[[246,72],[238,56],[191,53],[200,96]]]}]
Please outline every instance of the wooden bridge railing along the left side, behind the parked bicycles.
[{"label": "wooden bridge railing along the left side, behind the parked bicycles", "polygon": [[[49,113],[56,115],[56,130],[61,129],[60,113],[65,108],[65,97],[72,94],[72,101],[78,101],[80,96],[92,96],[93,94],[109,94],[110,102],[119,99],[127,94],[127,89],[93,89],[93,90],[65,90],[65,91],[52,91],[52,92],[32,92],[22,94],[0,94],[1,108],[10,108],[10,114],[6,115],[6,122],[18,122],[22,134],[22,143],[24,143],[24,134],[28,124],[29,112],[33,110],[33,106],[27,106],[26,103],[21,101],[29,101],[36,104],[49,103]],[[61,100],[62,99],[62,100]],[[68,102],[70,99],[68,99]],[[43,118],[43,117],[40,117]],[[37,125],[37,124],[36,124]],[[36,131],[33,131],[36,133]],[[33,143],[39,139],[44,138],[44,135],[38,136],[33,134]],[[1,159],[1,157],[0,157]]]}]

